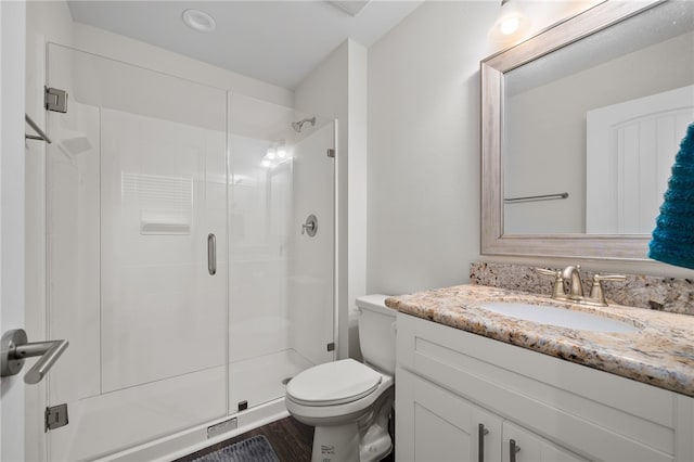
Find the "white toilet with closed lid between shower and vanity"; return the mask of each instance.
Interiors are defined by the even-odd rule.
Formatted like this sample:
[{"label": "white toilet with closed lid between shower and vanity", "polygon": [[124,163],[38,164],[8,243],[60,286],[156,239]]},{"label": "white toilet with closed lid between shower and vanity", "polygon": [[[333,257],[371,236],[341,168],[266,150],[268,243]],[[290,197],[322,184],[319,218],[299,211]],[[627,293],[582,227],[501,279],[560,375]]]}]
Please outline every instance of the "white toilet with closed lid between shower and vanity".
[{"label": "white toilet with closed lid between shower and vanity", "polygon": [[312,462],[371,462],[390,453],[395,396],[396,310],[386,295],[357,298],[364,363],[354,359],[307,369],[286,386],[286,409],[316,426]]}]

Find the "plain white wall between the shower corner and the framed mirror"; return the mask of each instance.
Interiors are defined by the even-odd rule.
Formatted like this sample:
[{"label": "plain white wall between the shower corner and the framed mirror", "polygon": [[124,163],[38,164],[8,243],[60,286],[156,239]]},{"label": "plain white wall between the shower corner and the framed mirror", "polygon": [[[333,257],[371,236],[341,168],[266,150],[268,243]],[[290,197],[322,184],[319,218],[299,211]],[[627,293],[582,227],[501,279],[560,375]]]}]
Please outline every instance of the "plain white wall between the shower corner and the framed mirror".
[{"label": "plain white wall between the shower corner and the framed mirror", "polygon": [[479,61],[496,2],[425,2],[369,50],[368,292],[467,280],[479,255]]}]

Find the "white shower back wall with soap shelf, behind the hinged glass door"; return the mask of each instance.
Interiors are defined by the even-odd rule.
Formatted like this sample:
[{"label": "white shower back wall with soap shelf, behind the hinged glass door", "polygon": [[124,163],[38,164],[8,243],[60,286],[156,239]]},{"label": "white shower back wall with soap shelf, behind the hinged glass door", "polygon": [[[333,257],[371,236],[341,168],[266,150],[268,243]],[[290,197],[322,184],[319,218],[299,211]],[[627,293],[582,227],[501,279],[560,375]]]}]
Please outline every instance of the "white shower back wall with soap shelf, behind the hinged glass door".
[{"label": "white shower back wall with soap shelf, behind the hinged glass door", "polygon": [[221,367],[226,271],[219,259],[210,278],[206,245],[223,236],[226,190],[207,187],[206,161],[223,156],[223,133],[105,108],[101,120],[102,392]]}]

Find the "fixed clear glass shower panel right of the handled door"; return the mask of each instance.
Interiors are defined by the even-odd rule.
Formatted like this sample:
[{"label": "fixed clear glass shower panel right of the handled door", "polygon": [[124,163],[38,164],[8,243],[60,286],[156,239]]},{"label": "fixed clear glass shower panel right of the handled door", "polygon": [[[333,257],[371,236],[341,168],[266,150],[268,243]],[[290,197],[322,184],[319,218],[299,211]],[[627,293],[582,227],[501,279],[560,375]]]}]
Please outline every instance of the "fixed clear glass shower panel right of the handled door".
[{"label": "fixed clear glass shower panel right of the handled door", "polygon": [[[229,95],[230,413],[334,359],[335,123]],[[314,215],[318,232],[301,233]]]}]

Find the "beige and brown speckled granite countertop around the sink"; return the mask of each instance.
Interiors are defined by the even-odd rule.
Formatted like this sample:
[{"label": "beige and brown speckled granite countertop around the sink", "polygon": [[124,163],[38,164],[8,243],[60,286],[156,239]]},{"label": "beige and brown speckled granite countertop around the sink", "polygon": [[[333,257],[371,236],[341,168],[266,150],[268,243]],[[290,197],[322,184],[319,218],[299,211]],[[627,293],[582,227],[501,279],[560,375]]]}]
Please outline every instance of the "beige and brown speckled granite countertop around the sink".
[{"label": "beige and brown speckled granite countertop around the sink", "polygon": [[[552,304],[617,319],[638,332],[579,331],[510,318],[485,301]],[[528,348],[648,385],[694,396],[694,317],[611,305],[590,307],[484,285],[458,285],[389,297],[400,312]]]}]

